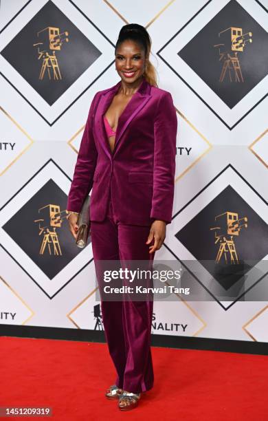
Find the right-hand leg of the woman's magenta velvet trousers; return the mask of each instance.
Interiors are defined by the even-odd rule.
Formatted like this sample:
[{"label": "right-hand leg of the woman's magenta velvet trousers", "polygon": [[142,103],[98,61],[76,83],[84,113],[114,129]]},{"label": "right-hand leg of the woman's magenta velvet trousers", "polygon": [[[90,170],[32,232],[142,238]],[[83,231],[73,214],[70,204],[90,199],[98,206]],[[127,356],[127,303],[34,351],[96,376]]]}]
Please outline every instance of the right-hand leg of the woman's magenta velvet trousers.
[{"label": "right-hand leg of the woman's magenta velvet trousers", "polygon": [[[152,269],[155,253],[149,253],[146,244],[150,226],[118,226],[119,255],[122,266],[131,261],[131,267]],[[127,266],[127,262],[126,262]],[[124,266],[125,267],[125,266]],[[126,281],[125,284],[129,282]],[[141,283],[139,283],[141,285]],[[135,287],[135,280],[131,284]],[[153,286],[151,279],[144,286]],[[150,332],[153,318],[153,297],[149,301],[132,301],[131,294],[123,301],[123,328],[126,338],[126,367],[123,389],[133,393],[153,387],[153,363],[150,352]],[[137,300],[137,295],[134,297]]]}]

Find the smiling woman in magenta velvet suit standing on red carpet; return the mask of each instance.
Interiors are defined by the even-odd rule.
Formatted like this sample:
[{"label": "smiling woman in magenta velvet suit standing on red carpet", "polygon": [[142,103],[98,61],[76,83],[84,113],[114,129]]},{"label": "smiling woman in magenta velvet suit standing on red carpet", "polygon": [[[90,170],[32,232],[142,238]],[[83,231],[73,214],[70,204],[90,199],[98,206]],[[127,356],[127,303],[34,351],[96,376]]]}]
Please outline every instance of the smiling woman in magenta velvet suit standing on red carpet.
[{"label": "smiling woman in magenta velvet suit standing on red carpet", "polygon": [[[151,40],[137,24],[124,25],[115,45],[120,82],[94,96],[82,136],[67,210],[76,238],[78,213],[91,193],[91,241],[98,261],[148,261],[166,237],[174,195],[177,114],[157,87]],[[103,278],[96,270],[98,283]],[[117,378],[106,396],[122,410],[153,387],[150,329],[153,301],[106,301],[102,321]]]}]

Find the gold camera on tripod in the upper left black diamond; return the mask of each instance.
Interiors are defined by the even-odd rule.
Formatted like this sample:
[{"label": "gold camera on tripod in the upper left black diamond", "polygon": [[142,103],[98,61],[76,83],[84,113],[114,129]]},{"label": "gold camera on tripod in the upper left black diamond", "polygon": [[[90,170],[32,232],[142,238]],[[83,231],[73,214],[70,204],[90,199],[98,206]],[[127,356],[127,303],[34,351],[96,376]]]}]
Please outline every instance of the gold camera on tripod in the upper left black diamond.
[{"label": "gold camera on tripod in the upper left black diamond", "polygon": [[[61,32],[60,29],[54,26],[48,26],[43,30],[37,32],[38,43],[33,44],[34,47],[38,47],[38,60],[43,58],[41,72],[39,79],[43,80],[45,74],[49,76],[49,80],[61,80],[60,67],[58,66],[58,59],[56,57],[56,51],[61,50],[61,46],[64,42],[69,42],[69,32]],[[52,53],[51,53],[52,52]],[[52,71],[52,75],[50,74]]]}]

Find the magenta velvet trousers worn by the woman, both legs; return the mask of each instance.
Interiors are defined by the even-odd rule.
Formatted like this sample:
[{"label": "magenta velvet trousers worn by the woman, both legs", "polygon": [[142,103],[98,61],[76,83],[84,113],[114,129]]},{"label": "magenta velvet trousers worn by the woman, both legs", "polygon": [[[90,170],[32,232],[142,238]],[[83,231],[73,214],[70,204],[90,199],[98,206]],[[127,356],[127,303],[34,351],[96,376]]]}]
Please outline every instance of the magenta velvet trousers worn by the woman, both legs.
[{"label": "magenta velvet trousers worn by the woman, both legs", "polygon": [[[148,261],[152,268],[155,252],[146,244],[150,226],[122,224],[113,212],[111,191],[107,217],[91,221],[91,242],[94,261]],[[96,270],[98,283],[103,277]],[[117,377],[115,385],[125,391],[139,393],[153,387],[153,362],[150,332],[153,300],[107,301],[101,297],[104,334]]]}]

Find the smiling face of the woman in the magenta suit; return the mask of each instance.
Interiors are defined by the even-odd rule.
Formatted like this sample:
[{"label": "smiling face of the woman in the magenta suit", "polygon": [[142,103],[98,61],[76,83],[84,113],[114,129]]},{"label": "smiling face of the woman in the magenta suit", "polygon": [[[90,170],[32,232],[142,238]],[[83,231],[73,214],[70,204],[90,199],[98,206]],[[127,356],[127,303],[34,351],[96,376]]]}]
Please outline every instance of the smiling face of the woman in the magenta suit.
[{"label": "smiling face of the woman in the magenta suit", "polygon": [[145,54],[142,47],[131,40],[124,41],[115,52],[115,69],[126,83],[134,83],[144,73]]}]

